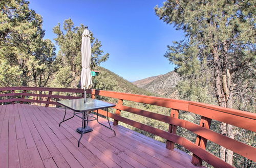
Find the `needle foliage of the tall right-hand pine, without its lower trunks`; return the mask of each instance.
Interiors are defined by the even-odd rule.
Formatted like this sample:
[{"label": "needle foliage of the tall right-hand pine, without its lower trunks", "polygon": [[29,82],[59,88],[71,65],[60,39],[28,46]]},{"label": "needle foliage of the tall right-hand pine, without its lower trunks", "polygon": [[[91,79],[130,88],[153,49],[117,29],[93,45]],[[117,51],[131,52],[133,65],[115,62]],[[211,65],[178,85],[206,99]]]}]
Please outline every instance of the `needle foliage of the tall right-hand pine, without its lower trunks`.
[{"label": "needle foliage of the tall right-hand pine, without its lower trunks", "polygon": [[[183,30],[186,36],[168,46],[164,55],[187,79],[180,85],[184,98],[201,102],[212,98],[217,66],[214,49],[220,55],[218,66],[223,74],[226,69],[230,70],[234,83],[241,80],[241,73],[253,70],[254,5],[253,1],[166,1],[163,7],[155,8],[160,19]],[[205,86],[208,88],[203,89]],[[192,91],[187,92],[188,88]],[[209,97],[202,98],[197,88]]]}]

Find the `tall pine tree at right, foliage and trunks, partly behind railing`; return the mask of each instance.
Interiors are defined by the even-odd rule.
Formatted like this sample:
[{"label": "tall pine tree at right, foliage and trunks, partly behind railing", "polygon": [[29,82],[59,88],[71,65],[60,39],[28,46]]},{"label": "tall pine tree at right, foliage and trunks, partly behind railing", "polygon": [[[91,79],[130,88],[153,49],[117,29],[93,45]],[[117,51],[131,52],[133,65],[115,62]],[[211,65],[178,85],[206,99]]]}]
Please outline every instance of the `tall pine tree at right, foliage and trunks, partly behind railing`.
[{"label": "tall pine tree at right, foliage and trunks, partly behind railing", "polygon": [[[245,95],[249,104],[254,101],[254,7],[255,1],[169,0],[155,8],[161,20],[185,33],[185,39],[168,46],[165,54],[188,79],[181,89],[196,92],[203,84],[209,88],[204,93],[213,91],[217,103],[229,108],[240,109],[234,102]],[[234,138],[233,126],[221,123],[220,131]],[[220,157],[232,164],[233,152],[220,147]]]}]

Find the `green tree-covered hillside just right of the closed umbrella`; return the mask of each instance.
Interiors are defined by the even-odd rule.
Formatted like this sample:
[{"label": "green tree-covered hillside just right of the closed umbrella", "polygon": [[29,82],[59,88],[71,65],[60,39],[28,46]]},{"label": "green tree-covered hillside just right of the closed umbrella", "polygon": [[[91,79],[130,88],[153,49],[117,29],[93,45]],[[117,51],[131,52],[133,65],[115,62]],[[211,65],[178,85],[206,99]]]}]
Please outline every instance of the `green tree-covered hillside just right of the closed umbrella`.
[{"label": "green tree-covered hillside just right of the closed umbrella", "polygon": [[95,83],[94,89],[157,96],[150,91],[135,86],[130,81],[108,69],[96,67],[95,70],[99,71],[99,76],[96,76],[95,79],[93,79]]}]

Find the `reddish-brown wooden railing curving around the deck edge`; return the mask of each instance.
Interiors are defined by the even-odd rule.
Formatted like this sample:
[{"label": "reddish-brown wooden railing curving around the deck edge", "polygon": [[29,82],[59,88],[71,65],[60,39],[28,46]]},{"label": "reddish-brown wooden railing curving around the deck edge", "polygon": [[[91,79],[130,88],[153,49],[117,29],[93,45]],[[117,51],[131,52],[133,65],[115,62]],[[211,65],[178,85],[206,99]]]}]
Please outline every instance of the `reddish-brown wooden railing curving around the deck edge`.
[{"label": "reddish-brown wooden railing curving around the deck edge", "polygon": [[[30,91],[46,92],[48,94],[29,93]],[[0,100],[0,103],[11,102],[12,104],[15,102],[35,102],[45,103],[46,106],[48,106],[49,104],[57,105],[57,102],[51,101],[51,98],[76,99],[84,97],[84,92],[81,89],[7,87],[0,88],[0,93],[1,92],[8,92],[0,94],[0,97],[8,97],[8,99],[2,99]],[[80,94],[81,96],[55,95],[54,93],[56,92],[75,93]],[[232,167],[232,165],[226,163],[219,157],[216,157],[215,155],[211,154],[206,150],[206,144],[208,140],[220,146],[223,146],[235,153],[238,153],[250,160],[256,161],[256,148],[210,130],[211,120],[217,120],[220,122],[231,124],[233,126],[244,128],[246,130],[256,132],[256,114],[249,113],[247,111],[224,108],[220,106],[209,105],[199,102],[135,95],[128,93],[118,93],[102,90],[87,90],[87,94],[91,94],[92,98],[95,98],[96,95],[99,95],[103,97],[111,97],[117,99],[117,104],[114,107],[116,109],[115,114],[109,115],[109,117],[114,119],[114,125],[118,125],[118,122],[123,122],[133,127],[144,130],[146,132],[160,136],[166,139],[166,148],[168,149],[174,149],[174,144],[177,143],[193,153],[191,162],[195,165],[201,165],[202,160],[204,160],[215,167]],[[33,100],[26,98],[30,96],[45,97],[47,98],[47,100]],[[125,106],[123,105],[123,100],[167,107],[171,109],[171,113],[170,116],[165,116],[161,114],[152,113],[151,111]],[[186,120],[178,119],[179,110],[184,110],[190,113],[200,115],[200,124],[197,125]],[[161,129],[154,128],[133,121],[131,119],[121,117],[121,111],[128,111],[136,115],[168,123],[168,131],[163,131]],[[106,116],[106,111],[104,110],[99,110],[99,113],[101,115]],[[188,139],[177,135],[177,127],[185,128],[197,134],[196,143],[192,143]]]}]

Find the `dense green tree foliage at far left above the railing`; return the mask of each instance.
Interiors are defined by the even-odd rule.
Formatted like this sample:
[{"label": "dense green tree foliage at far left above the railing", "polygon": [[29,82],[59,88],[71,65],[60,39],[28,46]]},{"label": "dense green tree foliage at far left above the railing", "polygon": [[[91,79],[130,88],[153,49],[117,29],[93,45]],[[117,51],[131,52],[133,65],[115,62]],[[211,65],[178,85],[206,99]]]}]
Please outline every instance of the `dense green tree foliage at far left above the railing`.
[{"label": "dense green tree foliage at far left above the railing", "polygon": [[25,0],[4,0],[0,7],[1,66],[11,67],[8,72],[13,80],[5,86],[48,86],[54,72],[55,46],[43,39],[41,16],[29,9]]}]

